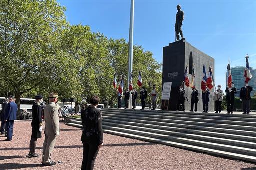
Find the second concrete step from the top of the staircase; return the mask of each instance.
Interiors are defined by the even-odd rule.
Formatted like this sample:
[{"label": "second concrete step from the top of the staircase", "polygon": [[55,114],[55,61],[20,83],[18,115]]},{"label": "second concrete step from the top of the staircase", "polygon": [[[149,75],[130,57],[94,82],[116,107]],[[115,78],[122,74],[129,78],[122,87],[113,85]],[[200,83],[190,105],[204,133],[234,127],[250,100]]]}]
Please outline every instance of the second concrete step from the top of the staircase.
[{"label": "second concrete step from the top of the staircase", "polygon": [[[196,122],[206,122],[206,123],[217,123],[217,124],[230,124],[230,125],[241,125],[241,126],[252,126],[256,127],[256,122],[247,122],[247,121],[233,121],[233,120],[215,120],[206,118],[194,118],[194,117],[177,117],[177,116],[165,116],[165,115],[145,115],[145,114],[130,114],[130,113],[114,113],[114,112],[103,112],[103,115],[112,115],[115,117],[143,117],[143,118],[157,118],[157,119],[168,119],[168,120],[182,120],[182,121],[196,121]],[[256,131],[256,128],[255,128]]]}]

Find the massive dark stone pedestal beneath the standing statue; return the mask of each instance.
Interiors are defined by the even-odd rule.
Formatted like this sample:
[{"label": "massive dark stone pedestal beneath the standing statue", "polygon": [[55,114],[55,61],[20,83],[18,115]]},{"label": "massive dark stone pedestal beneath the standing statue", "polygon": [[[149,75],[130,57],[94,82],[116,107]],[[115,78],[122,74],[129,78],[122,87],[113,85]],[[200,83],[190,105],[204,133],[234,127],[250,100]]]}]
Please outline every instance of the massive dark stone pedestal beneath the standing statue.
[{"label": "massive dark stone pedestal beneath the standing statue", "polygon": [[[192,66],[194,64],[195,71],[195,82],[194,85],[199,91],[199,102],[198,110],[202,111],[202,90],[201,80],[202,80],[202,67],[205,64],[206,73],[208,73],[209,65],[212,67],[212,73],[214,76],[215,65],[214,59],[209,55],[201,52],[190,43],[185,40],[180,40],[177,42],[170,43],[169,46],[163,47],[163,65],[162,65],[162,86],[164,82],[172,82],[169,107],[168,110],[176,111],[177,101],[178,101],[178,90],[179,86],[184,80],[185,67],[188,64],[189,80],[192,79]],[[209,101],[209,111],[214,110],[213,93],[214,88],[210,91],[210,101]],[[191,87],[185,86],[185,97],[188,101],[185,102],[185,110],[190,110],[191,103]]]}]

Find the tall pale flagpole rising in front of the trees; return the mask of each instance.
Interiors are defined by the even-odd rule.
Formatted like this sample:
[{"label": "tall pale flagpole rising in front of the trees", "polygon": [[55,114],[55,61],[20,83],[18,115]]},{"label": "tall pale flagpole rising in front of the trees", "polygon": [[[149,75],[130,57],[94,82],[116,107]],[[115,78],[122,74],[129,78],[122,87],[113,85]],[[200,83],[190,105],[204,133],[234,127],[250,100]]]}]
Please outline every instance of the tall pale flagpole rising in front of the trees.
[{"label": "tall pale flagpole rising in front of the trees", "polygon": [[[129,68],[128,68],[128,88],[130,84],[130,75],[132,74],[132,61],[133,61],[133,22],[134,22],[134,0],[130,3],[130,31],[129,31]],[[129,97],[128,108],[131,109],[131,91]]]}]

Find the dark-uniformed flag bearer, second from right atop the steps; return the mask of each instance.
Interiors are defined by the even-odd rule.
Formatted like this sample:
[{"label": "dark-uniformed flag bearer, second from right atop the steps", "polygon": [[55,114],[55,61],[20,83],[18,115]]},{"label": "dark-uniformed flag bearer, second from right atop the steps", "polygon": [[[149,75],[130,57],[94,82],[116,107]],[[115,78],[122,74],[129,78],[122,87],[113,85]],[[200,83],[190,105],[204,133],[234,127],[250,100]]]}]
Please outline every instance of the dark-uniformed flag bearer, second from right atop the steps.
[{"label": "dark-uniformed flag bearer, second from right atop the steps", "polygon": [[234,87],[234,83],[232,82],[232,87],[228,88],[226,87],[225,93],[226,93],[226,107],[227,107],[227,114],[233,114],[234,111],[234,94],[236,92],[236,88]]}]

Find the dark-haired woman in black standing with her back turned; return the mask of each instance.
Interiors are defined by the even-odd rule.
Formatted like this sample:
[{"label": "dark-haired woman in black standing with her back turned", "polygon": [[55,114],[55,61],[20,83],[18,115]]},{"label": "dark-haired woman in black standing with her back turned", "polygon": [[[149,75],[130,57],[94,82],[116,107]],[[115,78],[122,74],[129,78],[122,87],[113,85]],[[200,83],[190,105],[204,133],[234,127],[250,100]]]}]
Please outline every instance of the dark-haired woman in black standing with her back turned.
[{"label": "dark-haired woman in black standing with her back turned", "polygon": [[102,113],[97,109],[100,98],[90,98],[90,106],[81,112],[83,160],[82,170],[94,168],[99,148],[103,146]]}]

